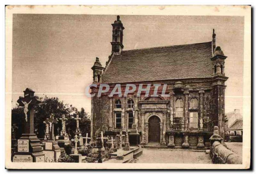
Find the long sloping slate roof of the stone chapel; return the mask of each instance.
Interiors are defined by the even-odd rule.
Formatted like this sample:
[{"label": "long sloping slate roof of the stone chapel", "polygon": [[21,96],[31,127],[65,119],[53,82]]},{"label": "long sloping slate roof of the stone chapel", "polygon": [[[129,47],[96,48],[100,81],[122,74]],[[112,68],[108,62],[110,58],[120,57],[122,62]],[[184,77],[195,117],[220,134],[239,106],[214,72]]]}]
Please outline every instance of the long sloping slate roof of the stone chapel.
[{"label": "long sloping slate roof of the stone chapel", "polygon": [[123,50],[106,68],[103,83],[212,77],[212,42]]}]

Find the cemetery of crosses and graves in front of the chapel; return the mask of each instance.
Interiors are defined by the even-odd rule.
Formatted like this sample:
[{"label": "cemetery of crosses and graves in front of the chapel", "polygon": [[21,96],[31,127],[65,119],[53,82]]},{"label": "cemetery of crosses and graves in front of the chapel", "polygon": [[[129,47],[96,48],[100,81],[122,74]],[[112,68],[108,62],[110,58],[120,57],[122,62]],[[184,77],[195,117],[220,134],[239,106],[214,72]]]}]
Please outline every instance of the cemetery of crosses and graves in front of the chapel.
[{"label": "cemetery of crosses and graves in front of the chapel", "polygon": [[[146,158],[150,163],[150,159],[147,158],[152,158],[152,154],[155,152],[150,151],[148,146],[141,144],[134,145],[129,140],[133,135],[137,135],[136,128],[134,130],[121,130],[117,132],[116,136],[109,135],[108,132],[102,130],[99,131],[97,137],[92,138],[89,137],[89,131],[81,131],[79,124],[82,118],[78,114],[74,115],[74,113],[71,117],[66,117],[65,114],[56,114],[59,117],[56,117],[53,113],[47,115],[45,120],[41,120],[42,125],[44,125],[43,138],[38,138],[37,135],[39,136],[39,134],[38,132],[37,134],[35,133],[36,129],[34,126],[36,113],[38,112],[35,111],[35,108],[42,101],[34,95],[35,92],[32,89],[26,88],[23,92],[24,97],[20,97],[17,101],[19,107],[23,109],[23,117],[21,119],[22,134],[17,139],[15,132],[17,132],[19,127],[15,124],[12,126],[12,162],[136,163],[137,161],[138,163],[143,163]],[[68,131],[67,122],[72,123]],[[56,128],[56,126],[58,127]],[[72,128],[74,129],[73,136],[71,136]],[[204,154],[204,160],[198,161],[199,163],[209,163],[209,159],[210,163],[242,163],[241,156],[221,144],[223,138],[219,135],[218,126],[214,126],[213,130],[213,135],[209,138],[210,144],[208,149],[193,151],[183,148],[183,150],[187,150],[186,153],[188,154],[197,153],[200,155],[201,153],[201,156],[205,152],[207,155]],[[131,146],[130,142],[132,142]],[[175,150],[174,148],[170,147],[169,149],[162,149],[161,152],[163,155],[159,159],[163,159],[159,163],[164,162],[165,154],[173,155],[177,153],[173,151]],[[145,155],[143,155],[143,150],[146,150]],[[168,152],[163,153],[163,150],[168,150]],[[161,152],[157,152],[157,154],[161,154]],[[157,159],[154,157],[151,160],[153,160],[152,162],[156,162]],[[175,162],[179,162],[179,160]],[[194,163],[196,163],[195,160]]]}]

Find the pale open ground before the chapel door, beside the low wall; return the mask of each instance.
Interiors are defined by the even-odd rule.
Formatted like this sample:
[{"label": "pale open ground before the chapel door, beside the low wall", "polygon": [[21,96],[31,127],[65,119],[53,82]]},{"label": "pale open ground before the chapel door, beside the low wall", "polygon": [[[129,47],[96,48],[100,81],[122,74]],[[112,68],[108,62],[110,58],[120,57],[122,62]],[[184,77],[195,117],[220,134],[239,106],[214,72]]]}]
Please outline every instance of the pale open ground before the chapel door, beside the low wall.
[{"label": "pale open ground before the chapel door, beside the low wall", "polygon": [[143,154],[138,157],[136,163],[212,163],[209,154],[205,152],[143,149]]}]

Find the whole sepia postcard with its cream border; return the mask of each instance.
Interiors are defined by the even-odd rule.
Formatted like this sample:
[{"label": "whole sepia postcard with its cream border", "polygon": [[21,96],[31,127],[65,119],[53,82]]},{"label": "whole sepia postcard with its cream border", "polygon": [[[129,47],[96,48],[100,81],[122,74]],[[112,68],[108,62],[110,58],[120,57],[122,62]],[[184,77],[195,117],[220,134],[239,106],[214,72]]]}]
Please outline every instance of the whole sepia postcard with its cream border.
[{"label": "whole sepia postcard with its cream border", "polygon": [[250,168],[251,6],[9,5],[5,19],[7,169]]}]

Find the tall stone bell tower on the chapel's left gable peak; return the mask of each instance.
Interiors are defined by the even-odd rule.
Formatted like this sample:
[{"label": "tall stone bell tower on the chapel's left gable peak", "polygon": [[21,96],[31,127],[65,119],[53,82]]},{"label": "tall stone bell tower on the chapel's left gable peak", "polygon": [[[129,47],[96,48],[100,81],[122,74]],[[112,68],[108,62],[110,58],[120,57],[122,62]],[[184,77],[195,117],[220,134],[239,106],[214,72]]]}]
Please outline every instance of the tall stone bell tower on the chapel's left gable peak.
[{"label": "tall stone bell tower on the chapel's left gable peak", "polygon": [[114,24],[111,24],[113,26],[113,34],[112,34],[112,53],[113,52],[121,52],[124,48],[123,45],[123,30],[124,26],[120,20],[120,16],[117,16],[117,20],[115,20]]}]

